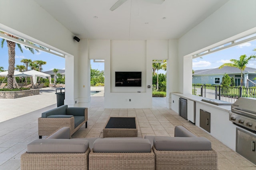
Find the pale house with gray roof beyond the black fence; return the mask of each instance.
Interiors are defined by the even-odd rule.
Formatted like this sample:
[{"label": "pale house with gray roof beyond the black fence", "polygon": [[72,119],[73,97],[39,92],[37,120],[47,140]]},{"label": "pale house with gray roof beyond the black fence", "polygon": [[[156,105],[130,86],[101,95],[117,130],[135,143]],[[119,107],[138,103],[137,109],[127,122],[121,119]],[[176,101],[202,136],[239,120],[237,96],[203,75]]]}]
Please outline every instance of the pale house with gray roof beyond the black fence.
[{"label": "pale house with gray roof beyond the black fence", "polygon": [[[214,84],[219,85],[222,82],[222,77],[224,74],[233,77],[236,86],[241,84],[241,70],[235,67],[224,66],[223,68],[210,68],[204,70],[194,70],[192,75],[193,84]],[[246,67],[243,73],[243,85],[248,84],[249,87],[256,85],[256,68]]]}]

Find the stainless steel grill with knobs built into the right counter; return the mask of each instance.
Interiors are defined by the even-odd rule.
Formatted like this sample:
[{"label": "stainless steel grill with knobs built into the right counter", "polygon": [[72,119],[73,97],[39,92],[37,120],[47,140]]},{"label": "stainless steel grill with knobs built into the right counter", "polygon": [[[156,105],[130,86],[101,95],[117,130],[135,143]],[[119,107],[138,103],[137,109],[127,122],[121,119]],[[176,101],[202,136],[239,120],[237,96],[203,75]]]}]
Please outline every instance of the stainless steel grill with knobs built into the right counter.
[{"label": "stainless steel grill with knobs built into the right counter", "polygon": [[231,105],[229,120],[256,133],[256,98],[239,98]]}]

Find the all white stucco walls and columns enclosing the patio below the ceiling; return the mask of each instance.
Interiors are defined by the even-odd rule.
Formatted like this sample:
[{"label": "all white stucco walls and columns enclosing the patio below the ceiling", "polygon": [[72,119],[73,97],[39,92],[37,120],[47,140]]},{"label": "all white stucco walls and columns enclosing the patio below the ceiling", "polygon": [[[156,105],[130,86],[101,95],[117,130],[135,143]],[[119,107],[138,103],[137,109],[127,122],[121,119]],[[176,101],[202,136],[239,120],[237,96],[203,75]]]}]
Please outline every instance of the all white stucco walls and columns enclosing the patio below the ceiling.
[{"label": "all white stucco walls and columns enclosing the patio below the ceiling", "polygon": [[[255,6],[255,0],[230,0],[178,40],[117,43],[82,39],[78,43],[68,29],[33,0],[0,0],[0,29],[66,55],[66,88],[69,90],[66,90],[65,104],[69,106],[88,106],[90,59],[104,58],[106,108],[150,108],[152,88],[146,86],[152,84],[152,60],[168,59],[167,105],[170,107],[170,92],[192,92],[193,54],[256,32]],[[97,51],[99,47],[104,52]],[[119,58],[118,55],[122,56]],[[127,65],[122,67],[123,70],[142,70],[144,80],[141,88],[120,91],[113,86],[113,72],[121,68],[119,65],[123,62]],[[134,66],[131,67],[132,64]],[[126,102],[130,98],[134,100]],[[138,105],[137,101],[142,104]]]}]

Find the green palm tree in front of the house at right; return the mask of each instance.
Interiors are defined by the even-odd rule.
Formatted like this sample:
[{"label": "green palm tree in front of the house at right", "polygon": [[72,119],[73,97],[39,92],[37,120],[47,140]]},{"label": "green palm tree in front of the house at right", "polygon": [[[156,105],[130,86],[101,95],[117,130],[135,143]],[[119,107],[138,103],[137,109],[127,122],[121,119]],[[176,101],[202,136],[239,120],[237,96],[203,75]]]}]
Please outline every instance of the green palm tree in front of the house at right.
[{"label": "green palm tree in front of the house at right", "polygon": [[246,68],[246,65],[248,64],[248,61],[251,59],[255,59],[255,55],[250,55],[247,57],[246,55],[241,55],[239,60],[236,59],[230,59],[231,62],[233,63],[224,63],[222,64],[219,68],[223,68],[224,66],[230,66],[230,67],[236,67],[241,70],[241,86],[243,85],[243,71]]}]

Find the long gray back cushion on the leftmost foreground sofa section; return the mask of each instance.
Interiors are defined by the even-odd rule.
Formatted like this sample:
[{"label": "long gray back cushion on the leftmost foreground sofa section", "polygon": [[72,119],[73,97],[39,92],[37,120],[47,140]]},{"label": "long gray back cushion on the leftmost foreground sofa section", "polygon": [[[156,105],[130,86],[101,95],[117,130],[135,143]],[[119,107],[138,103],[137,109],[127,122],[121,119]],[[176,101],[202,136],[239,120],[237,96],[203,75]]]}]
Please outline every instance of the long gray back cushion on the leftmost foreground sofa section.
[{"label": "long gray back cushion on the leftmost foreground sofa section", "polygon": [[27,145],[28,153],[84,153],[89,141],[84,139],[36,139]]}]

